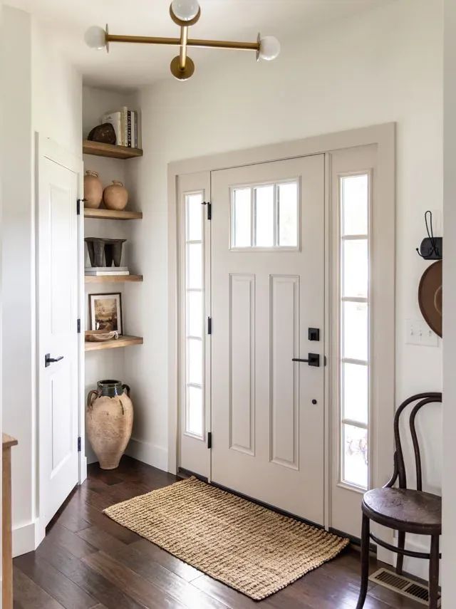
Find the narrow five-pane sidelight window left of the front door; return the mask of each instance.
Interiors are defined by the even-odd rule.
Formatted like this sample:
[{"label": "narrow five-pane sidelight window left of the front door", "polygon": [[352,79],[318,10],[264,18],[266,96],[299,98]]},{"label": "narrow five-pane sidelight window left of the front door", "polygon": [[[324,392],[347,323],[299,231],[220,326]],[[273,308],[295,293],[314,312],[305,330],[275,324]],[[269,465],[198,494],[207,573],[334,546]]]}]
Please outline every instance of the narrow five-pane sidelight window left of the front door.
[{"label": "narrow five-pane sidelight window left of the front door", "polygon": [[204,214],[202,192],[185,194],[185,433],[204,437]]}]

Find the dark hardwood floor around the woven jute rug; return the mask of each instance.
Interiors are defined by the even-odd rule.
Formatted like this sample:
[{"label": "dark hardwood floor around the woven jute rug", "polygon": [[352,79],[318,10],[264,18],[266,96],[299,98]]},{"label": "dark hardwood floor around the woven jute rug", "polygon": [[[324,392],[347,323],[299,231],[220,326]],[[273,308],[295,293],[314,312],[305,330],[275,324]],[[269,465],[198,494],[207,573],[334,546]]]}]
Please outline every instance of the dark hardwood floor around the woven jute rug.
[{"label": "dark hardwood floor around the woven jute rug", "polygon": [[[102,510],[160,488],[176,478],[123,457],[88,479],[53,519],[36,552],[14,559],[16,609],[353,609],[359,554],[345,551],[260,603],[212,580],[124,529]],[[372,562],[372,568],[377,568]],[[420,609],[423,605],[371,585],[366,609]]]}]

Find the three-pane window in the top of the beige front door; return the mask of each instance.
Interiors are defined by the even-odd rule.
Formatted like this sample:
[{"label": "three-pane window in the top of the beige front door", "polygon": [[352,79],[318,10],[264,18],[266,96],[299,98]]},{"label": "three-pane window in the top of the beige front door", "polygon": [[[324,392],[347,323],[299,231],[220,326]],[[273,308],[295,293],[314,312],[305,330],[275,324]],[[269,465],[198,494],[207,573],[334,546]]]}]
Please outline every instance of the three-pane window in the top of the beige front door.
[{"label": "three-pane window in the top of the beige front door", "polygon": [[230,249],[298,249],[299,182],[231,189]]}]

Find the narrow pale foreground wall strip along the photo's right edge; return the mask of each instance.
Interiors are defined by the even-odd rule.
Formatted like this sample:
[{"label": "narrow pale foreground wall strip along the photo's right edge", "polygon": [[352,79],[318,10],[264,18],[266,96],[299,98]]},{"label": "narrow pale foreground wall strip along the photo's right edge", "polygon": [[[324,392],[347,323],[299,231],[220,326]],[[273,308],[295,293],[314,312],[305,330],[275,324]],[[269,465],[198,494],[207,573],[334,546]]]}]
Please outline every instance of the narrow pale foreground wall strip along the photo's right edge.
[{"label": "narrow pale foreground wall strip along the photo's right edge", "polygon": [[455,603],[456,565],[456,3],[445,0],[444,71],[444,222],[445,261],[443,264],[443,547],[442,605]]}]

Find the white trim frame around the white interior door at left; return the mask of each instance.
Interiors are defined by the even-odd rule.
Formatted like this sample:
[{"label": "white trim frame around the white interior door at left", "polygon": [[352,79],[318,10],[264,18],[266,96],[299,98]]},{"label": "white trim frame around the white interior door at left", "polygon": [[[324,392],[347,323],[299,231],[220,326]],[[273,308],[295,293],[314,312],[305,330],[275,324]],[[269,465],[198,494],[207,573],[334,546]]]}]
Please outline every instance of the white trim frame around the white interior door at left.
[{"label": "white trim frame around the white interior door at left", "polygon": [[[84,192],[84,171],[83,171],[83,160],[82,157],[77,157],[73,155],[71,152],[68,152],[65,148],[58,144],[58,142],[51,140],[49,137],[45,137],[42,134],[36,132],[35,134],[35,233],[36,233],[36,243],[35,243],[35,252],[36,252],[36,458],[38,471],[36,474],[36,498],[38,501],[37,504],[37,519],[36,519],[36,534],[35,534],[35,546],[38,546],[39,543],[43,540],[45,536],[45,525],[43,523],[43,514],[41,511],[41,506],[43,505],[44,493],[46,492],[46,485],[43,484],[43,468],[41,464],[43,463],[43,446],[41,442],[41,438],[43,434],[41,434],[41,426],[43,425],[43,417],[41,416],[40,409],[40,370],[42,366],[42,361],[40,357],[40,327],[39,327],[39,201],[41,195],[41,175],[43,170],[43,163],[46,159],[55,162],[57,165],[61,165],[65,167],[69,171],[73,172],[78,177],[78,195],[77,199],[83,199]],[[75,214],[77,212],[77,201],[75,204]],[[81,328],[84,328],[84,283],[83,283],[83,274],[81,269],[83,269],[84,259],[84,249],[83,249],[83,215],[78,215],[77,218],[77,247],[78,247],[78,318],[81,319]],[[76,332],[76,319],[75,319],[75,332]],[[83,333],[78,334],[78,437],[81,437],[81,452],[78,455],[78,484],[81,484],[87,477],[87,459],[86,452],[84,450],[84,437],[85,437],[85,404],[84,404],[84,342],[83,342]]]}]

